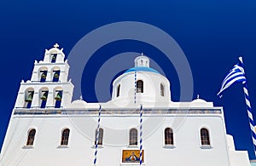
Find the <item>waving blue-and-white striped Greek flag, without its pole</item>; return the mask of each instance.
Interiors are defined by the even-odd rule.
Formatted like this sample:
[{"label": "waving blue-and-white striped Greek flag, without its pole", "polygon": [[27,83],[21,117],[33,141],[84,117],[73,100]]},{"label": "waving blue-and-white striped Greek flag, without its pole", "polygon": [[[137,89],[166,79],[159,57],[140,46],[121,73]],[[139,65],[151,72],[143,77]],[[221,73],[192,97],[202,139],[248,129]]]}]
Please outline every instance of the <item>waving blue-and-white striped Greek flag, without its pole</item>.
[{"label": "waving blue-and-white striped Greek flag, without its pole", "polygon": [[228,89],[231,85],[235,83],[246,83],[247,79],[245,77],[245,72],[243,69],[243,63],[241,57],[239,58],[239,63],[236,64],[224,78],[221,88],[218,92],[218,96],[222,97],[222,93],[225,89]]}]

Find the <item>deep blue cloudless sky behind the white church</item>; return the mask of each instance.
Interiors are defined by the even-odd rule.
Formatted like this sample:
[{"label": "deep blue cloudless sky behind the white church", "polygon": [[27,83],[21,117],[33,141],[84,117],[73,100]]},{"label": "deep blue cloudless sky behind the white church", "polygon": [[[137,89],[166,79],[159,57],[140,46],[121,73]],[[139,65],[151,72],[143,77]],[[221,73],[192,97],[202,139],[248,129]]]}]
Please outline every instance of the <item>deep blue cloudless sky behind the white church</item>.
[{"label": "deep blue cloudless sky behind the white church", "polygon": [[[68,55],[88,32],[129,20],[157,26],[177,41],[192,70],[194,98],[201,94],[215,106],[224,106],[227,132],[234,135],[236,149],[247,150],[250,158],[255,158],[241,84],[227,90],[222,99],[216,96],[226,73],[242,55],[255,117],[255,1],[2,1],[0,20],[0,145],[20,81],[30,79],[34,60],[44,58],[44,49],[59,43]],[[159,50],[136,41],[109,43],[93,54],[85,66],[91,70],[83,75],[84,100],[96,101],[95,76],[103,61],[128,51],[143,51],[162,66],[172,83],[172,100],[179,100],[180,87],[172,64]],[[100,54],[104,57],[99,59]]]}]

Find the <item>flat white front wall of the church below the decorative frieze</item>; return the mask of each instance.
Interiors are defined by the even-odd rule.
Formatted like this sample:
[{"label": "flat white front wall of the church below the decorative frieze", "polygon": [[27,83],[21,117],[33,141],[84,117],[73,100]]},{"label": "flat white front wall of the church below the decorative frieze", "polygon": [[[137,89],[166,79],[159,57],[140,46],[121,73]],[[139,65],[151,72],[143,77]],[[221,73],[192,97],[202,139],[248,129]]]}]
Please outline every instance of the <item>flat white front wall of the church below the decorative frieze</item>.
[{"label": "flat white front wall of the church below the decorative frieze", "polygon": [[[15,116],[9,124],[4,140],[2,165],[92,165],[97,117],[87,116]],[[228,166],[229,152],[227,147],[224,122],[218,116],[185,116],[185,117],[144,117],[143,149],[145,165],[196,165]],[[157,123],[155,123],[157,122]],[[103,148],[98,151],[98,166],[119,165],[122,150],[128,147],[129,129],[139,129],[139,117],[134,115],[102,115],[104,129]],[[175,148],[164,146],[164,129],[172,127]],[[211,149],[201,149],[199,130],[206,127],[210,131]],[[37,129],[32,149],[24,149],[27,130]],[[58,148],[61,141],[61,129],[71,130],[67,148]],[[138,149],[135,148],[135,149]],[[243,160],[241,157],[239,160]]]}]

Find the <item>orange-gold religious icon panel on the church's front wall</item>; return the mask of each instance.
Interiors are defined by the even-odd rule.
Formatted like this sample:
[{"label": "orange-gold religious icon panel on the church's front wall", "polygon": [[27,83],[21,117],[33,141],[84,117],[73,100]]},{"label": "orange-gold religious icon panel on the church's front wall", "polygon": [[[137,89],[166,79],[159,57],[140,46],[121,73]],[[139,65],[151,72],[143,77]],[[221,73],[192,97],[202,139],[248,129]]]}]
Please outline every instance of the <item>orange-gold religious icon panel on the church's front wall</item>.
[{"label": "orange-gold religious icon panel on the church's front wall", "polygon": [[[140,150],[123,150],[123,163],[139,163],[140,162]],[[144,162],[144,150],[143,150],[143,162]]]}]

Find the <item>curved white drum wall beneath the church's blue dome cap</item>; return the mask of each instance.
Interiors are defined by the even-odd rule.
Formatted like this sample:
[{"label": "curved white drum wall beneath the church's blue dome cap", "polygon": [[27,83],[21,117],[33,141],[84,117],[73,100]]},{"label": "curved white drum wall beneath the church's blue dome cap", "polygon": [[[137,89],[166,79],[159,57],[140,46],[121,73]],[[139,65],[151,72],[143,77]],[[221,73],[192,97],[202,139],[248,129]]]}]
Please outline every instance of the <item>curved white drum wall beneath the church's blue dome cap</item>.
[{"label": "curved white drum wall beneath the church's blue dome cap", "polygon": [[[170,82],[166,77],[154,72],[137,72],[137,80],[143,80],[143,93],[137,93],[137,100],[151,102],[170,102],[171,91]],[[160,95],[160,83],[165,86],[165,96]],[[120,94],[116,97],[117,87],[120,84]],[[132,100],[134,99],[134,72],[125,73],[113,82],[112,100]]]}]

